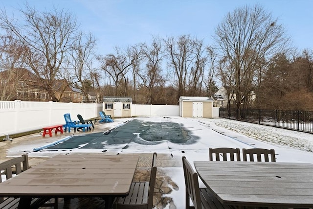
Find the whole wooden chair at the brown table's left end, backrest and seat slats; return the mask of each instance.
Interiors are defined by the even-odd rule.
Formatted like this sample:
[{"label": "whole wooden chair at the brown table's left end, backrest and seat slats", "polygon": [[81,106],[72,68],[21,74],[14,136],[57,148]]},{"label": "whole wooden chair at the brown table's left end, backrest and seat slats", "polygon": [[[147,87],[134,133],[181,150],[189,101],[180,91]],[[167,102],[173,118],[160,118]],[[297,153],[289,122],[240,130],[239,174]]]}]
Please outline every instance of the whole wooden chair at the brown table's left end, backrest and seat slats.
[{"label": "whole wooden chair at the brown table's left end, backrest and seat slats", "polygon": [[[21,165],[22,164],[22,165]],[[13,158],[7,160],[3,163],[0,163],[0,171],[4,170],[6,176],[6,180],[13,177],[14,168],[15,166],[15,173],[16,175],[22,173],[29,168],[28,164],[28,155],[23,154],[21,157]],[[2,178],[0,178],[0,182],[2,182]],[[54,203],[45,204],[49,199],[49,197],[42,197],[42,198],[32,198],[31,200],[31,207],[32,208],[39,208],[40,206],[55,206],[57,208],[58,201],[56,200]],[[56,198],[57,199],[57,198]],[[20,198],[8,197],[3,198],[0,197],[0,209],[17,209],[19,206]]]}]

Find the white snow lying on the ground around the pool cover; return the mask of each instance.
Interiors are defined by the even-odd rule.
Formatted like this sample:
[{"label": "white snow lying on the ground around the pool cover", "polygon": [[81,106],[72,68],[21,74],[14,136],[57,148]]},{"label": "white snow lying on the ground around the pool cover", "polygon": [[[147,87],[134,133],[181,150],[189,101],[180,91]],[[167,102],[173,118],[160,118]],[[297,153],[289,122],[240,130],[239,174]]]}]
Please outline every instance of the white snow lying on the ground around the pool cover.
[{"label": "white snow lying on the ground around the pool cover", "polygon": [[[98,130],[113,129],[114,127],[125,124],[126,121],[133,118],[114,118],[112,123],[102,123],[95,126]],[[142,121],[154,122],[175,122],[182,124],[184,129],[190,136],[196,137],[198,140],[193,144],[177,144],[164,140],[158,144],[139,144],[130,142],[128,148],[123,149],[126,144],[106,145],[105,149],[107,155],[122,154],[140,154],[153,153],[168,155],[173,159],[172,163],[175,166],[159,166],[164,175],[169,176],[173,182],[179,187],[174,189],[169,196],[173,198],[177,209],[185,208],[185,201],[181,198],[185,195],[185,183],[183,170],[181,166],[181,157],[186,159],[193,165],[194,161],[208,160],[208,148],[217,147],[232,147],[232,148],[265,148],[274,149],[276,162],[292,162],[292,163],[313,163],[313,135],[309,133],[291,131],[281,128],[275,128],[265,125],[258,125],[254,123],[247,123],[243,121],[230,120],[225,118],[183,118],[183,117],[141,117],[136,118]],[[112,130],[114,131],[114,130]],[[38,136],[37,136],[38,135]],[[35,139],[35,137],[37,137]],[[138,136],[140,138],[140,136]],[[52,157],[65,153],[103,153],[103,149],[71,149],[48,152],[43,150],[40,152],[33,152],[33,148],[46,145],[46,141],[42,140],[40,134],[34,134],[29,137],[32,139],[25,144],[14,146],[7,151],[10,157],[21,155],[20,152],[29,152],[29,157]],[[38,140],[39,139],[39,140]],[[50,138],[50,140],[56,138]],[[142,139],[143,140],[143,139]],[[82,145],[83,146],[83,145]],[[169,149],[171,147],[171,149]],[[182,152],[183,151],[183,152]],[[170,157],[172,156],[172,158]],[[163,159],[167,159],[163,157]],[[160,161],[156,160],[156,162]],[[158,163],[157,163],[158,164]],[[160,163],[162,164],[162,163]],[[166,164],[166,163],[165,163]],[[203,183],[200,182],[203,187]],[[165,209],[170,209],[167,205]]]}]

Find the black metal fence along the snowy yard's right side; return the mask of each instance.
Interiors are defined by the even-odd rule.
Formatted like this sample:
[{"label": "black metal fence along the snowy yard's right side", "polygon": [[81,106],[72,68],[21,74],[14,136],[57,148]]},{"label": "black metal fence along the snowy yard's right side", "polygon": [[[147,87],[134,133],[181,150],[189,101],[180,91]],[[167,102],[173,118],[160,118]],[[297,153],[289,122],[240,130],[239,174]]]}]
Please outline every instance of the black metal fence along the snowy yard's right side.
[{"label": "black metal fence along the snowy yard's right side", "polygon": [[239,113],[236,109],[220,108],[220,117],[313,134],[313,111],[247,109]]}]

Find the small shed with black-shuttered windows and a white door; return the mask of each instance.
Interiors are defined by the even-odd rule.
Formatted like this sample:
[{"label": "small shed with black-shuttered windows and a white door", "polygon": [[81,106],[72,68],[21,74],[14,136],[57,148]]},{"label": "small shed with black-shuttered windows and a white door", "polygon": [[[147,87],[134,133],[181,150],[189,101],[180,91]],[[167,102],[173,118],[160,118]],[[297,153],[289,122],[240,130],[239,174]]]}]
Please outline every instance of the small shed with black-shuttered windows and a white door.
[{"label": "small shed with black-shuttered windows and a white door", "polygon": [[131,117],[133,99],[131,97],[103,97],[103,111],[114,117]]}]

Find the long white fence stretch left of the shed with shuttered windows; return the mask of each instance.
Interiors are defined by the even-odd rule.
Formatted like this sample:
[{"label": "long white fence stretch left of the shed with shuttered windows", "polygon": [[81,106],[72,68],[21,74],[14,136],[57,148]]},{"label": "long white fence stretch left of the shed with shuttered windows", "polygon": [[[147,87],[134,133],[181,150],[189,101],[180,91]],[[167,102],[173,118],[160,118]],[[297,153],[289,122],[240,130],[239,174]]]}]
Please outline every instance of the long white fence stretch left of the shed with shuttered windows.
[{"label": "long white fence stretch left of the shed with shuttered windows", "polygon": [[99,116],[102,104],[0,101],[0,136],[42,129],[45,126],[64,124],[64,114],[72,120]]}]

